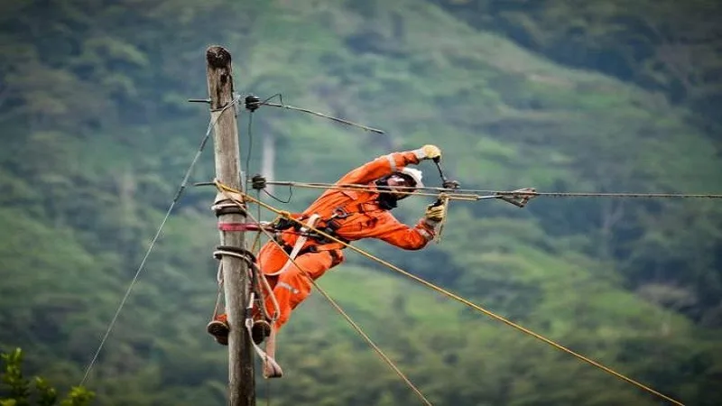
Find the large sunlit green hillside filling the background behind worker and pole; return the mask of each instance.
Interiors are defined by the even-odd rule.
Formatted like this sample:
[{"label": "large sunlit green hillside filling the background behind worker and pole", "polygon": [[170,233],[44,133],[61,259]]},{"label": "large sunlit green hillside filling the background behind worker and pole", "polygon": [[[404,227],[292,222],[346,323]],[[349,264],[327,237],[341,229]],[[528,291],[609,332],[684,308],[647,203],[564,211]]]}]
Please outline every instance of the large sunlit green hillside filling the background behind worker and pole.
[{"label": "large sunlit green hillside filling the background behind worker and pole", "polygon": [[[690,119],[690,105],[598,66],[562,66],[433,3],[444,2],[0,5],[0,350],[22,346],[32,374],[79,383],[206,131],[207,106],[187,99],[207,97],[210,44],[232,53],[240,94],[281,93],[385,132],[262,107],[249,134],[242,111],[250,173],[273,135],[277,180],[333,181],[435,143],[468,189],[722,189],[714,126]],[[208,145],[190,181],[212,179],[212,162]],[[421,169],[440,184],[432,164]],[[301,210],[318,193],[264,201]],[[225,402],[226,348],[205,333],[214,196],[180,198],[89,376],[95,404]],[[412,223],[431,200],[394,215]],[[455,201],[439,245],[357,246],[685,404],[713,405],[721,220],[712,199]],[[660,404],[349,250],[320,285],[434,404]],[[419,403],[318,293],[279,344],[285,374],[266,383],[259,372],[259,404]]]}]

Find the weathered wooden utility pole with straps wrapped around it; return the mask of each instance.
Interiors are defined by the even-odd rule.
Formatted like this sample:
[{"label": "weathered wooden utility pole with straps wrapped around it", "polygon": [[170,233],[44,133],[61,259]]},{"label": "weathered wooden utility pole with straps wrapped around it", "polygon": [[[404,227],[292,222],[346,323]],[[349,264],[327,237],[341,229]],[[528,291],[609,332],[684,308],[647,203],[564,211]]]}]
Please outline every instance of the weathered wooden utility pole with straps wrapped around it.
[{"label": "weathered wooden utility pole with straps wrapped around it", "polygon": [[[233,76],[231,54],[225,49],[212,46],[206,51],[210,117],[213,126],[216,156],[216,178],[221,183],[241,188],[240,147],[236,106],[233,101]],[[226,198],[218,193],[216,207],[223,207]],[[217,209],[220,245],[228,248],[244,248],[243,231],[231,231],[223,225],[245,223],[245,212],[228,205]],[[224,229],[226,228],[226,229]],[[230,335],[228,337],[228,404],[230,406],[255,406],[255,377],[251,349],[251,337],[244,327],[244,309],[248,302],[248,271],[242,259],[223,255],[224,294]]]}]

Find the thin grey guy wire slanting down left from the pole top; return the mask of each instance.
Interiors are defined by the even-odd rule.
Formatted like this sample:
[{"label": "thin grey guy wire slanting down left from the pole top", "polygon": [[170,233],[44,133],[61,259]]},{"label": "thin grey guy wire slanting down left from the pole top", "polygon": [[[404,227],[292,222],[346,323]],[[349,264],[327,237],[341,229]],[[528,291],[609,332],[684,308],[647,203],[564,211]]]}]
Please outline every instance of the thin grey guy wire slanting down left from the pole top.
[{"label": "thin grey guy wire slanting down left from the pole top", "polygon": [[168,210],[165,212],[165,217],[163,217],[161,225],[158,226],[158,230],[155,232],[155,235],[153,235],[151,244],[148,246],[148,249],[145,251],[145,254],[143,255],[143,260],[141,261],[140,265],[138,265],[138,269],[135,271],[133,279],[130,281],[130,284],[128,285],[128,289],[125,291],[125,295],[123,296],[123,299],[120,300],[120,304],[118,305],[118,308],[116,309],[116,313],[113,315],[113,318],[111,318],[110,323],[107,326],[105,334],[100,339],[100,344],[97,346],[97,350],[96,350],[95,354],[93,355],[92,359],[88,363],[88,367],[85,370],[83,379],[80,380],[80,385],[83,385],[86,382],[86,380],[88,379],[88,374],[90,374],[90,370],[93,368],[93,365],[95,365],[95,363],[97,361],[97,355],[100,354],[100,351],[103,349],[103,346],[105,346],[105,344],[106,344],[107,337],[110,336],[110,332],[116,326],[116,321],[117,321],[118,316],[120,315],[120,311],[125,306],[125,302],[128,300],[128,297],[130,296],[130,292],[133,291],[135,282],[138,281],[138,277],[140,276],[141,272],[143,272],[145,263],[147,262],[148,257],[150,256],[151,252],[153,251],[153,246],[155,246],[156,241],[158,241],[158,238],[161,235],[161,232],[162,232],[163,227],[165,226],[165,223],[168,221],[168,218],[171,217],[171,212],[172,212],[173,208],[175,208],[175,205],[176,205],[176,203],[178,203],[180,196],[183,193],[183,190],[185,190],[188,185],[188,180],[190,179],[190,173],[193,171],[193,168],[196,166],[196,163],[198,162],[198,160],[200,158],[200,154],[203,152],[203,150],[206,147],[206,144],[208,143],[208,139],[210,138],[210,133],[213,130],[213,126],[216,125],[216,122],[218,121],[218,117],[223,115],[223,112],[225,112],[228,107],[236,105],[237,102],[238,102],[238,98],[236,98],[235,100],[232,100],[226,106],[221,108],[220,113],[218,113],[215,120],[210,120],[210,122],[208,123],[208,129],[206,130],[206,134],[203,136],[203,139],[200,141],[199,149],[196,152],[195,156],[193,157],[193,160],[190,162],[188,170],[186,171],[185,175],[183,176],[183,180],[180,181],[180,187],[178,188],[178,191],[176,191],[175,197],[173,197],[173,199],[171,201],[171,205],[168,207]]}]

